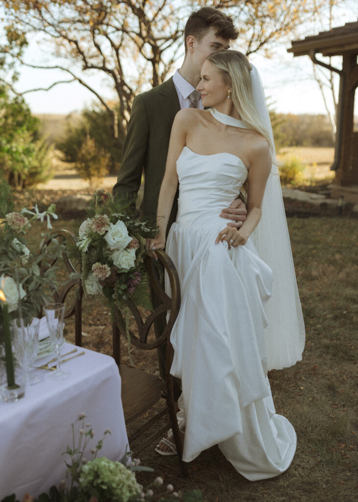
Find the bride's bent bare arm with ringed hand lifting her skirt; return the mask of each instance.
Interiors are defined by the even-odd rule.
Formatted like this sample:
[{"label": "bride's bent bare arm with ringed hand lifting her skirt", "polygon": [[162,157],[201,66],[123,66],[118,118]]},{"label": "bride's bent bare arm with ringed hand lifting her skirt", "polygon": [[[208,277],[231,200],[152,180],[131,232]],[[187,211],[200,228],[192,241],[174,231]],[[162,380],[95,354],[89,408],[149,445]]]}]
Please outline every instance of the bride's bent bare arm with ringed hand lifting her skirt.
[{"label": "bride's bent bare arm with ringed hand lifting her skirt", "polygon": [[271,155],[268,143],[264,139],[255,141],[250,155],[250,169],[247,175],[248,196],[246,220],[239,230],[227,226],[219,232],[215,242],[226,240],[236,247],[244,245],[256,228],[261,218],[261,205],[266,182],[271,170]]}]

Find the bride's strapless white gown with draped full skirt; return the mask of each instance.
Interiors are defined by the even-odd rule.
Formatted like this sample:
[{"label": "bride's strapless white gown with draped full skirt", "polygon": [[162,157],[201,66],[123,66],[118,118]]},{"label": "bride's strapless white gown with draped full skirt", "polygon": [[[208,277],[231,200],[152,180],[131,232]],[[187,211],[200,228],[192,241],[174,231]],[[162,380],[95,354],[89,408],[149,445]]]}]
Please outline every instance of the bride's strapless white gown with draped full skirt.
[{"label": "bride's strapless white gown with draped full skirt", "polygon": [[180,196],[166,252],[182,291],[170,340],[171,374],[183,389],[183,459],[219,444],[247,479],[273,477],[290,465],[296,434],[275,413],[267,379],[264,304],[272,272],[251,238],[231,249],[215,244],[226,226],[221,210],[237,197],[247,170],[235,155],[199,155],[188,147],[176,166]]}]

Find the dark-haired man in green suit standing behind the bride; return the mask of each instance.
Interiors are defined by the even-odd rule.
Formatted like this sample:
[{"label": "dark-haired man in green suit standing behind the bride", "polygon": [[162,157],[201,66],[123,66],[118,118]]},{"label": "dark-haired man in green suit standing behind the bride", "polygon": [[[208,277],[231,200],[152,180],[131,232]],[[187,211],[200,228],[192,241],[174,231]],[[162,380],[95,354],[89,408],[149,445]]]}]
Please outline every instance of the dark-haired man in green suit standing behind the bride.
[{"label": "dark-haired man in green suit standing behind the bride", "polygon": [[[196,86],[205,59],[223,49],[229,49],[230,40],[236,40],[238,31],[232,19],[217,9],[203,7],[193,12],[185,27],[185,59],[173,77],[161,85],[143,92],[134,98],[127,136],[123,144],[122,164],[113,196],[117,199],[135,201],[144,170],[144,195],[140,214],[145,220],[156,221],[156,210],[161,181],[164,176],[166,156],[169,147],[171,126],[175,114],[181,108],[203,108]],[[194,92],[195,91],[195,92]],[[167,231],[175,221],[177,212],[175,196]],[[135,209],[135,202],[132,203]],[[223,208],[222,218],[228,218],[230,225],[241,226],[246,218],[246,208],[240,199],[230,207]],[[153,293],[153,292],[152,292]],[[152,294],[154,308],[161,303]],[[155,324],[156,336],[165,327],[165,316]],[[165,375],[165,347],[159,347],[159,368]],[[180,390],[177,390],[180,393]]]}]

